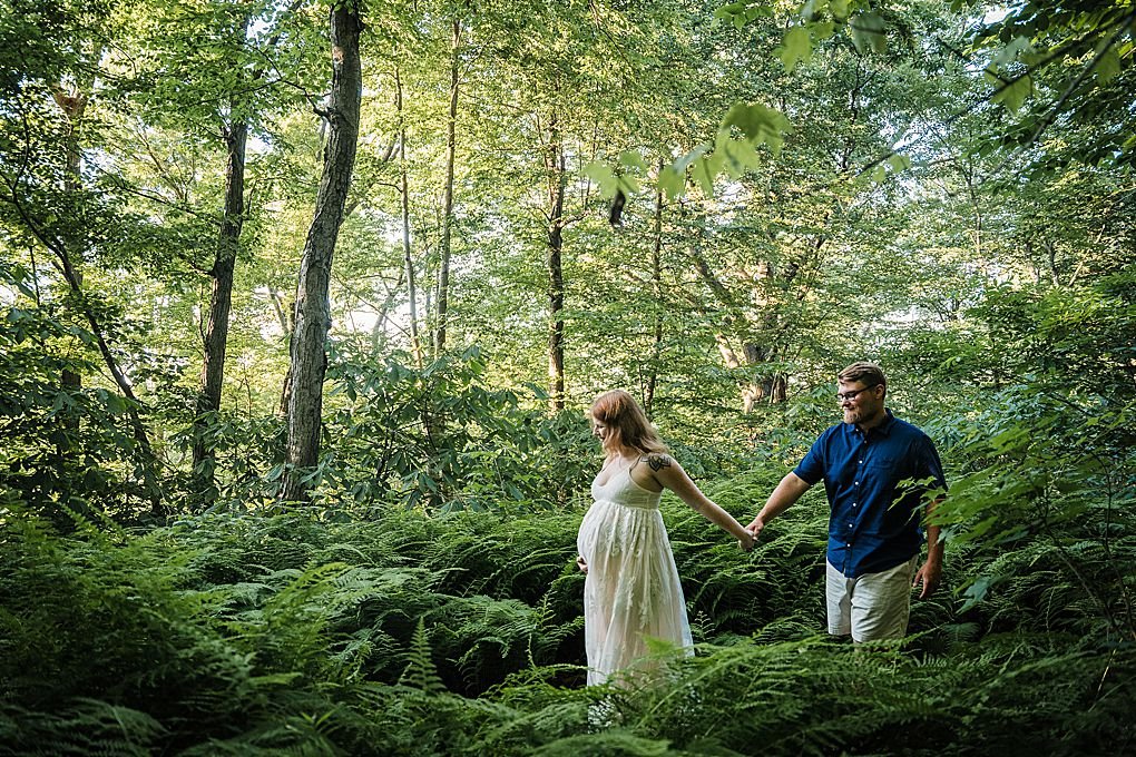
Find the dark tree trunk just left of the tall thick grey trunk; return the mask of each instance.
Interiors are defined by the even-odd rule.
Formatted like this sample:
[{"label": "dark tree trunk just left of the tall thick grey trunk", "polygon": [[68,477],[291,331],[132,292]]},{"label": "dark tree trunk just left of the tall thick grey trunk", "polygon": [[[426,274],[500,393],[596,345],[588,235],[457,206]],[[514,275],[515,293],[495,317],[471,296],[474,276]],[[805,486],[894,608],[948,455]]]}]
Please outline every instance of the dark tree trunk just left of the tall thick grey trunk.
[{"label": "dark tree trunk just left of the tall thick grey trunk", "polygon": [[[234,112],[236,108],[233,109]],[[214,453],[206,444],[209,414],[220,410],[220,392],[225,380],[225,353],[228,343],[228,320],[233,304],[233,272],[244,225],[244,157],[248,121],[239,118],[225,134],[228,161],[225,167],[225,210],[217,237],[217,255],[210,277],[209,323],[204,335],[204,362],[201,367],[201,392],[193,419],[193,471],[199,489],[207,491],[214,482]]]}]

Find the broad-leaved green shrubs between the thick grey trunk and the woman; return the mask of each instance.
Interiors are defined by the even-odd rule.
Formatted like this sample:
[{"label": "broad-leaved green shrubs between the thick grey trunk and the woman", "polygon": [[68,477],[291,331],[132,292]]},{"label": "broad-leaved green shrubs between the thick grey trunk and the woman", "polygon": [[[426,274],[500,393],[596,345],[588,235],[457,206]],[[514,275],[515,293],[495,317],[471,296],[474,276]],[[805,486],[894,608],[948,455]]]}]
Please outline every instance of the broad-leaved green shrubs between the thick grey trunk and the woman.
[{"label": "broad-leaved green shrubs between the thick grey trunk and the woman", "polygon": [[[317,496],[451,510],[563,505],[591,469],[579,414],[549,418],[485,386],[477,348],[421,370],[336,351]],[[507,505],[506,503],[511,503]]]}]

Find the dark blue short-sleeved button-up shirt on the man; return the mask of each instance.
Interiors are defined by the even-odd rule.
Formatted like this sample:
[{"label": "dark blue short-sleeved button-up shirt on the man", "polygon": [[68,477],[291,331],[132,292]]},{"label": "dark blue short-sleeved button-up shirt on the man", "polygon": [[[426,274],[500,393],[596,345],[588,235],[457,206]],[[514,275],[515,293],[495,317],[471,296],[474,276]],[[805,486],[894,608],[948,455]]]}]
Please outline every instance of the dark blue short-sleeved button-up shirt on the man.
[{"label": "dark blue short-sleeved button-up shirt on the man", "polygon": [[934,479],[946,488],[930,438],[887,411],[864,434],[855,423],[825,430],[793,471],[805,483],[824,479],[832,514],[828,562],[847,578],[879,573],[919,553],[924,489],[900,481]]}]

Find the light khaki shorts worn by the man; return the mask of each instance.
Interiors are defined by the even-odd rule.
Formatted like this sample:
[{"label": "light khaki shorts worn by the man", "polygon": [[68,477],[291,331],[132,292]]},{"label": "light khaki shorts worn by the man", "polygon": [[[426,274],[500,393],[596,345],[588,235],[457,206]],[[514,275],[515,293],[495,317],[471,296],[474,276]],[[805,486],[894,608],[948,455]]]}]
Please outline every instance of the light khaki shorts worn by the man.
[{"label": "light khaki shorts worn by the man", "polygon": [[828,632],[833,636],[851,633],[853,641],[903,638],[908,632],[911,581],[918,562],[919,555],[916,555],[882,573],[850,579],[826,560]]}]

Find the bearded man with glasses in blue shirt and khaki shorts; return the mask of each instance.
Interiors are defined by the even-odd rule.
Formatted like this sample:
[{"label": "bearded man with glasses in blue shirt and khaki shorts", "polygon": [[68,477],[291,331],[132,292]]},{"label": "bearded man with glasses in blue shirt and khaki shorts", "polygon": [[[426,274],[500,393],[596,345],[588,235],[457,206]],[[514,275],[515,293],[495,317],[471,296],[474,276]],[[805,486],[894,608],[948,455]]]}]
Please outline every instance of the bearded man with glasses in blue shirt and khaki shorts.
[{"label": "bearded man with glasses in blue shirt and khaki shorts", "polygon": [[824,479],[830,508],[828,632],[857,642],[897,639],[908,630],[911,588],[922,584],[919,597],[927,597],[943,572],[937,525],[927,525],[927,562],[918,566],[924,489],[901,481],[932,479],[945,489],[943,465],[930,438],[884,405],[887,379],[879,365],[853,363],[836,381],[844,422],[820,435],[746,529],[758,538]]}]

